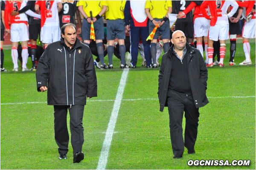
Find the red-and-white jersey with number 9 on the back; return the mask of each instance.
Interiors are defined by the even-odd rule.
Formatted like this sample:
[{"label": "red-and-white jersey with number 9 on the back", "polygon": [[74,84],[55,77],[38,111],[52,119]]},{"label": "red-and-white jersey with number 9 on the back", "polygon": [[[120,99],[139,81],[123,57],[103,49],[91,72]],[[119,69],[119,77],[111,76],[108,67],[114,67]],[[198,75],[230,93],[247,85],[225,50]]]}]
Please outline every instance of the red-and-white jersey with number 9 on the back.
[{"label": "red-and-white jersey with number 9 on the back", "polygon": [[[210,19],[207,12],[204,10],[209,6],[210,13],[212,15],[210,26],[215,25],[228,25],[228,18],[232,17],[238,9],[238,4],[234,0],[205,0],[201,6],[201,12],[205,18]],[[227,8],[233,6],[232,10],[227,14]]]}]

